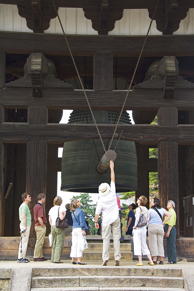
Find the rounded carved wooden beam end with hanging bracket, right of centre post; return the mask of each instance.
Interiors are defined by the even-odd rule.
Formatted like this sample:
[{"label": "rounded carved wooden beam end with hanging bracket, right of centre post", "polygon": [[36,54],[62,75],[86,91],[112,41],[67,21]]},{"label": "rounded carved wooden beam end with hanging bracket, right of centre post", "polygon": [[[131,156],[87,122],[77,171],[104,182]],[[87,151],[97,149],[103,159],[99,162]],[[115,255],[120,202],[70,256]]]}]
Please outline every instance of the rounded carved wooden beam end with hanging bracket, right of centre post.
[{"label": "rounded carved wooden beam end with hanging bracket, right of centre post", "polygon": [[164,98],[174,97],[176,77],[179,76],[179,62],[175,56],[164,56],[156,68],[156,76],[164,77]]}]

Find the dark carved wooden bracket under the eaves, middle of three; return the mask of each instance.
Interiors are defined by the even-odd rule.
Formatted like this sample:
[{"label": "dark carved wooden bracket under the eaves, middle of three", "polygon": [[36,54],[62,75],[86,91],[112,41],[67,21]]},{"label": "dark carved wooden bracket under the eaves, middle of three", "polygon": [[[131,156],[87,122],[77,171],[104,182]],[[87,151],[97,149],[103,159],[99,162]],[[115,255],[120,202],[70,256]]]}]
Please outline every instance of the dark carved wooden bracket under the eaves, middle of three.
[{"label": "dark carved wooden bracket under the eaves, middle of three", "polygon": [[114,29],[116,20],[123,17],[123,6],[112,6],[109,0],[100,0],[99,6],[83,6],[84,15],[92,20],[92,28],[99,35],[107,35]]}]

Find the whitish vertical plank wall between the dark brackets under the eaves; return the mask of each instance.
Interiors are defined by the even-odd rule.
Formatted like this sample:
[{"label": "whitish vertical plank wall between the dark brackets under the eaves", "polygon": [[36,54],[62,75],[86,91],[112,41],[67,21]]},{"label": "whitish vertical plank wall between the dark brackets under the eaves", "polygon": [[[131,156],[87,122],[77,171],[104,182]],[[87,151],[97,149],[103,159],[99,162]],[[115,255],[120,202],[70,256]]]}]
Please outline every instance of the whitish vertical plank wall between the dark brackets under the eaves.
[{"label": "whitish vertical plank wall between the dark brackets under the eaves", "polygon": [[[58,10],[65,33],[97,35],[92,22],[86,19],[82,8],[60,7]],[[0,31],[33,32],[26,25],[26,19],[18,14],[17,5],[0,4]],[[147,9],[124,9],[123,17],[117,20],[109,35],[146,35],[151,19]],[[46,33],[62,33],[57,17],[50,20]],[[161,35],[153,21],[150,35]],[[187,17],[181,20],[179,29],[173,34],[194,34],[194,8],[190,8]]]}]

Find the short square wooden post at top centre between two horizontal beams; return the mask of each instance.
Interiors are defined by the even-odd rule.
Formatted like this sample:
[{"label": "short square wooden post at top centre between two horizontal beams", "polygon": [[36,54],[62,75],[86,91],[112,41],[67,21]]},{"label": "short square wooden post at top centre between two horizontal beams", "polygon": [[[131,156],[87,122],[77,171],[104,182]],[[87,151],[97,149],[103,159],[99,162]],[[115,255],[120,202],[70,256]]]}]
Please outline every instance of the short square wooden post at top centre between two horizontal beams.
[{"label": "short square wooden post at top centre between two horizontal beams", "polygon": [[111,52],[94,53],[93,78],[94,91],[113,90],[113,54]]}]

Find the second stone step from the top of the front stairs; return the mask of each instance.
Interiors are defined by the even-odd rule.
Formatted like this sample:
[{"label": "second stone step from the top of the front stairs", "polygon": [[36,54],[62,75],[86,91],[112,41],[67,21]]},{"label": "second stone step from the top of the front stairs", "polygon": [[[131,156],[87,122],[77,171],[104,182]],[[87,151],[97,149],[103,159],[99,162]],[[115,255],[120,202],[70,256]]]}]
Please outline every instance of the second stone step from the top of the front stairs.
[{"label": "second stone step from the top of the front stairs", "polygon": [[32,288],[61,287],[155,287],[184,288],[181,277],[155,276],[64,276],[33,277]]}]

